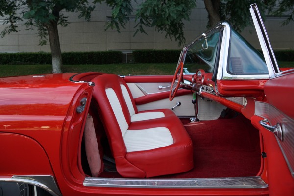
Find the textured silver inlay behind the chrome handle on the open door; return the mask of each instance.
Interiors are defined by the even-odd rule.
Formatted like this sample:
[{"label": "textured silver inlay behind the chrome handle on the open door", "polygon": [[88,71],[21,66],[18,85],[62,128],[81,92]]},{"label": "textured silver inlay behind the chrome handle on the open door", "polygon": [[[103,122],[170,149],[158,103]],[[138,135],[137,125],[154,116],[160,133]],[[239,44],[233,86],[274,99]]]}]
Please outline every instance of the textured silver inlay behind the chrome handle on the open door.
[{"label": "textured silver inlay behind the chrome handle on the open door", "polygon": [[283,141],[276,135],[292,177],[294,177],[294,120],[269,103],[255,101],[255,115],[268,119],[270,125],[280,124],[283,129]]}]

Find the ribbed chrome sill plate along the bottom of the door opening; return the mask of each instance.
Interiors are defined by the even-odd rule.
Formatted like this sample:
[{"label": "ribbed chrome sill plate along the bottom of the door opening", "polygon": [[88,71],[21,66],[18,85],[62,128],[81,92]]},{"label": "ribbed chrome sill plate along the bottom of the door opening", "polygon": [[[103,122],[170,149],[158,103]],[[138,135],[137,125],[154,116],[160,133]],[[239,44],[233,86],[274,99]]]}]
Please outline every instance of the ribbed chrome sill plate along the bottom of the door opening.
[{"label": "ribbed chrome sill plate along the bottom of the door opening", "polygon": [[90,187],[166,189],[263,189],[268,187],[259,176],[194,179],[123,179],[86,177],[83,185]]}]

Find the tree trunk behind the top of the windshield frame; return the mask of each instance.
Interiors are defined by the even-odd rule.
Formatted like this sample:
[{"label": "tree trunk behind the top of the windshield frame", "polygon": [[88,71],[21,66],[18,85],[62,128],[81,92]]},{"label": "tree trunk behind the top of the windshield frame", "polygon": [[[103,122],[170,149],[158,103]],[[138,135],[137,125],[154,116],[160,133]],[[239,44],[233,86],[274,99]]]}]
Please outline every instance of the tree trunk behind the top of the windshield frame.
[{"label": "tree trunk behind the top of the windshield frame", "polygon": [[221,17],[219,15],[221,0],[204,0],[205,9],[208,12],[209,26],[217,24]]}]

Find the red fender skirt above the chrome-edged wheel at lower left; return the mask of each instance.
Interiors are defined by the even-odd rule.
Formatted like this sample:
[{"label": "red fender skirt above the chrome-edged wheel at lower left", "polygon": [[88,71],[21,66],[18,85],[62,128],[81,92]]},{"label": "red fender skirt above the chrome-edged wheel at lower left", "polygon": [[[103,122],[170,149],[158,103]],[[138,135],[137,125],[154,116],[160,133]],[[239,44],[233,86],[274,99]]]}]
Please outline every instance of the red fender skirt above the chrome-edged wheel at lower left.
[{"label": "red fender skirt above the chrome-edged wheel at lower left", "polygon": [[0,176],[52,175],[43,147],[32,138],[13,133],[0,133]]}]

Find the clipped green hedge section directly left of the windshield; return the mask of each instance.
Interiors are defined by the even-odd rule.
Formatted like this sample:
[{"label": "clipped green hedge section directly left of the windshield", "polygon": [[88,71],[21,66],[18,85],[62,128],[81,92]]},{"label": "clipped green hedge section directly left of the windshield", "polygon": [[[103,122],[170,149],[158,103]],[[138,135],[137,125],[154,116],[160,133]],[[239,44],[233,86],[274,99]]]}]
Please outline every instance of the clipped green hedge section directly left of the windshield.
[{"label": "clipped green hedge section directly left of the windshield", "polygon": [[181,50],[136,50],[135,63],[177,63]]}]

